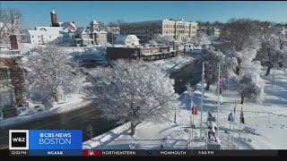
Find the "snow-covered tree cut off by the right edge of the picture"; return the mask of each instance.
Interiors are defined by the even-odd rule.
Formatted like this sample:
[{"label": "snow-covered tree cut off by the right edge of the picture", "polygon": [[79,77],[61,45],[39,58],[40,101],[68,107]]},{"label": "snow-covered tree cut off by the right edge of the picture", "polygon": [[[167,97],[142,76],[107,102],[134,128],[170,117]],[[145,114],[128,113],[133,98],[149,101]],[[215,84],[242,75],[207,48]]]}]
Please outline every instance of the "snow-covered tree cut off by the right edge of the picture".
[{"label": "snow-covered tree cut off by the right edge of the picture", "polygon": [[269,75],[274,67],[287,67],[287,36],[284,32],[270,33],[270,28],[264,28],[262,40],[261,62],[267,65],[265,76]]}]

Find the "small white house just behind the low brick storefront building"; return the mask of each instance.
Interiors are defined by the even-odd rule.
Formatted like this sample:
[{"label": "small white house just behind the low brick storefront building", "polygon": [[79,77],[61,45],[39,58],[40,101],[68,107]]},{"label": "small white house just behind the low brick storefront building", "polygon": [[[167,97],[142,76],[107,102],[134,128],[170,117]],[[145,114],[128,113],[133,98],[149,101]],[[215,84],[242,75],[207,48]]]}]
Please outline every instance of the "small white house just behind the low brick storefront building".
[{"label": "small white house just behind the low brick storefront building", "polygon": [[119,35],[115,40],[115,44],[124,45],[126,47],[139,46],[140,39],[135,35]]}]

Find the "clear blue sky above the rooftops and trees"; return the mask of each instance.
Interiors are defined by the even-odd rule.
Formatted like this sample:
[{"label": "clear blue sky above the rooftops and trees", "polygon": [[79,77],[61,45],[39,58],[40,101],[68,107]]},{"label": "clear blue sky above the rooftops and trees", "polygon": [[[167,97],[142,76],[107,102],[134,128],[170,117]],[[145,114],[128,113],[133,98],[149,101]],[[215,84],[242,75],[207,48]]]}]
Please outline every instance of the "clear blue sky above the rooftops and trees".
[{"label": "clear blue sky above the rooftops and trees", "polygon": [[228,21],[230,18],[251,18],[260,21],[287,22],[284,1],[1,1],[1,8],[14,7],[22,12],[22,28],[51,24],[50,12],[57,12],[58,21],[74,21],[87,26],[96,21]]}]

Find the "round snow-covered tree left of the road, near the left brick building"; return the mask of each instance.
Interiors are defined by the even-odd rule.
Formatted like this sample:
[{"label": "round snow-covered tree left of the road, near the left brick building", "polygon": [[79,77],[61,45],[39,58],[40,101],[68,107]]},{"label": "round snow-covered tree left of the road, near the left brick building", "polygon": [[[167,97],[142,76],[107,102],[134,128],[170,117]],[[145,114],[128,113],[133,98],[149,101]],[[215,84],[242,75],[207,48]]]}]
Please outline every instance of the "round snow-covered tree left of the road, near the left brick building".
[{"label": "round snow-covered tree left of the road, near the left brick building", "polygon": [[[79,83],[80,72],[77,64],[65,54],[60,47],[47,45],[31,50],[27,55],[29,61],[23,64],[28,69],[29,89],[41,89],[46,97],[57,97],[57,92],[65,92]],[[79,85],[79,84],[77,84]]]}]

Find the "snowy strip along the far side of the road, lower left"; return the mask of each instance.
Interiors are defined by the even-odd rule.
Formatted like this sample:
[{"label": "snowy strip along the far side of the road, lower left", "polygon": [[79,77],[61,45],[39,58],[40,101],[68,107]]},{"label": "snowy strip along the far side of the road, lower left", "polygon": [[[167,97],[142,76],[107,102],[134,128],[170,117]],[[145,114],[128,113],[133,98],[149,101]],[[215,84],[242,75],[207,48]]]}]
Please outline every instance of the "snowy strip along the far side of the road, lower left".
[{"label": "snowy strip along the far side of the road, lower left", "polygon": [[10,126],[13,124],[24,123],[24,122],[35,120],[38,118],[47,117],[52,114],[65,113],[65,112],[80,108],[82,106],[86,106],[89,103],[90,102],[87,100],[84,100],[81,95],[72,94],[66,97],[66,101],[63,104],[55,103],[53,107],[49,108],[48,110],[44,110],[44,111],[39,111],[38,109],[30,108],[26,110],[26,114],[25,112],[23,112],[21,115],[7,118],[4,120],[0,120],[0,124],[1,124],[1,127],[3,128],[3,127]]}]

